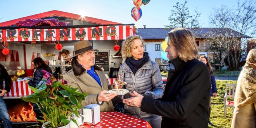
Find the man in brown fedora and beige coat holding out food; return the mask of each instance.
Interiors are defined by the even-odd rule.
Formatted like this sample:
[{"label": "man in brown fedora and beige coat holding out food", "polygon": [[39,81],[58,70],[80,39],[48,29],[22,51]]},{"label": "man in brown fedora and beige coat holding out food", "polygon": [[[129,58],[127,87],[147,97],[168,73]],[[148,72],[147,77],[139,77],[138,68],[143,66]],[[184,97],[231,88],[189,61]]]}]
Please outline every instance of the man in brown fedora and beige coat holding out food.
[{"label": "man in brown fedora and beige coat holding out food", "polygon": [[100,111],[114,111],[111,102],[116,95],[107,94],[107,90],[113,89],[102,72],[102,69],[95,65],[94,50],[88,40],[74,44],[75,55],[72,57],[71,66],[73,70],[67,72],[63,79],[69,85],[77,86],[83,93],[89,93],[82,101],[82,105],[99,104]]}]

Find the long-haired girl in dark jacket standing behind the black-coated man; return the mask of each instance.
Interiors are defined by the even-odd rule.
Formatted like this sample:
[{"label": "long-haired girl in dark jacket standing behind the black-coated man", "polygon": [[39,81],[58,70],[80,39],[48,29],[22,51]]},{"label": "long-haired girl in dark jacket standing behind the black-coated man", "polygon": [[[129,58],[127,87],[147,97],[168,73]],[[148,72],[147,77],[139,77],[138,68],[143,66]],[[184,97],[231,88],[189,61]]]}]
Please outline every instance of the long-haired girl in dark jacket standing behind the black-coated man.
[{"label": "long-haired girl in dark jacket standing behind the black-coated man", "polygon": [[209,117],[208,117],[208,123],[209,125],[213,126],[213,123],[210,121],[210,115],[211,115],[211,97],[217,97],[217,87],[216,87],[216,80],[215,76],[213,74],[213,70],[211,69],[211,64],[208,61],[208,58],[205,55],[201,55],[199,58],[200,61],[202,61],[204,64],[206,64],[210,74],[211,74],[211,92],[210,92],[210,101],[209,101]]}]

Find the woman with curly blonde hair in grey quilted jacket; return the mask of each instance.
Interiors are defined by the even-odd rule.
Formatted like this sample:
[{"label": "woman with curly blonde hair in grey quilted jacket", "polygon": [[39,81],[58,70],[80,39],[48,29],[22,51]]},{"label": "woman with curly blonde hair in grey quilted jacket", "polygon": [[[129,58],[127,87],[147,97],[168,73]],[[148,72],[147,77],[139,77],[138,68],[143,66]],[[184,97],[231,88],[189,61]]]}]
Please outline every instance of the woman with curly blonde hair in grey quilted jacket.
[{"label": "woman with curly blonde hair in grey quilted jacket", "polygon": [[[150,60],[149,54],[144,52],[144,40],[141,36],[133,35],[122,43],[122,57],[125,62],[121,65],[118,74],[120,80],[127,82],[122,88],[142,94],[153,99],[161,98],[164,94],[164,85],[159,66]],[[121,87],[119,87],[121,88]],[[131,97],[126,93],[122,99]],[[125,104],[125,113],[149,122],[152,128],[161,127],[161,116],[142,112],[139,107]]]}]

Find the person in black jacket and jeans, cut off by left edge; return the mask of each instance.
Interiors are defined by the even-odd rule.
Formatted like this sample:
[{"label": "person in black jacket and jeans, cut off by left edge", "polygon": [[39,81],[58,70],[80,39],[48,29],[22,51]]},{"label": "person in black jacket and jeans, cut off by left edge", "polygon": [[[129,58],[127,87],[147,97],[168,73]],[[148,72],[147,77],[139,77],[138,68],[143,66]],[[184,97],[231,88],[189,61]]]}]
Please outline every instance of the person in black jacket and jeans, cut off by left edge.
[{"label": "person in black jacket and jeans, cut off by left edge", "polygon": [[[5,81],[5,87],[3,89],[3,80]],[[12,128],[12,122],[10,121],[10,116],[7,111],[6,104],[3,100],[3,95],[10,92],[12,79],[7,73],[6,69],[0,64],[0,118],[3,121],[4,128]]]}]

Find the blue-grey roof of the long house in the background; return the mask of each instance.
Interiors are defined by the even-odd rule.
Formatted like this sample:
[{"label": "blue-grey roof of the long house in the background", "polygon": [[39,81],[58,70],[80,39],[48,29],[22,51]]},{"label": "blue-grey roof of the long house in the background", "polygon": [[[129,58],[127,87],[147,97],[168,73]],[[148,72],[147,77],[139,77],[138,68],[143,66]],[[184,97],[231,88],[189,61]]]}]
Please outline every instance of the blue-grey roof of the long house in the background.
[{"label": "blue-grey roof of the long house in the background", "polygon": [[[223,36],[223,28],[199,28],[199,29],[192,29],[194,32],[194,36],[196,38],[212,38],[213,35],[215,37]],[[225,29],[227,33],[230,33],[232,29]],[[168,32],[171,29],[165,28],[138,28],[136,29],[136,35],[142,36],[143,39],[165,39],[168,36]],[[234,37],[242,37],[242,38],[251,38],[250,36],[242,34],[239,36],[239,32],[234,31]]]}]

